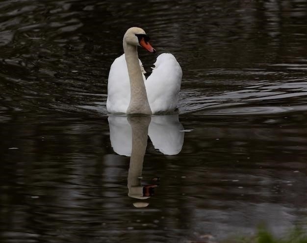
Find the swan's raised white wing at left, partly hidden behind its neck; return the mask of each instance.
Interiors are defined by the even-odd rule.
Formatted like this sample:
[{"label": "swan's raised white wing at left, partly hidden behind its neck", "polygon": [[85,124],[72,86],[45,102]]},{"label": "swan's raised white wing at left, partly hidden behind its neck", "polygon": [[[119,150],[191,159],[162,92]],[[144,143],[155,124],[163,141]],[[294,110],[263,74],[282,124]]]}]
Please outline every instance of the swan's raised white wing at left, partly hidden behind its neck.
[{"label": "swan's raised white wing at left, partly hidden behind its neck", "polygon": [[[144,81],[146,80],[142,62],[140,67]],[[106,109],[109,113],[126,113],[130,102],[130,81],[125,54],[119,56],[111,65],[108,77],[108,97]]]}]

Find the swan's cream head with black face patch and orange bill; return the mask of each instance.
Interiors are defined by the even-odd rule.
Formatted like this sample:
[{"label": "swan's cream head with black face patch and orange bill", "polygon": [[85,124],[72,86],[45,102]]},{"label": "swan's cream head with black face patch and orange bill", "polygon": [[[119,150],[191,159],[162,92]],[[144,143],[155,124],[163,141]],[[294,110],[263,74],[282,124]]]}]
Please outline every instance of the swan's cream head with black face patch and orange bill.
[{"label": "swan's cream head with black face patch and orange bill", "polygon": [[144,29],[139,27],[128,28],[124,35],[123,42],[131,46],[141,46],[149,52],[155,53],[155,49],[149,43],[149,36],[145,33]]}]

